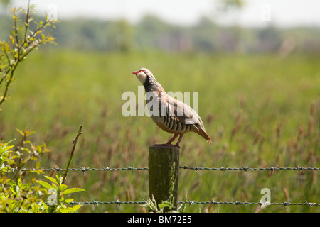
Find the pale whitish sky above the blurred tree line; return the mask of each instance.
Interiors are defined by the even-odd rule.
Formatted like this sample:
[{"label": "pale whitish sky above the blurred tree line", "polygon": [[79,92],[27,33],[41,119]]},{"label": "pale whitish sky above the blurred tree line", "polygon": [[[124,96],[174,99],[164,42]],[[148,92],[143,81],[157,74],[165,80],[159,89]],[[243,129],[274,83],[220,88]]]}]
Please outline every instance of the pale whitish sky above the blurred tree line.
[{"label": "pale whitish sky above the blurred tree line", "polygon": [[[219,19],[220,23],[245,26],[318,26],[320,0],[246,0],[246,6],[228,16],[217,14],[217,0],[31,0],[36,11],[54,12],[59,21],[86,17],[102,20],[125,18],[136,23],[146,14],[169,23],[188,26],[201,16]],[[14,0],[17,6],[26,0]]]}]

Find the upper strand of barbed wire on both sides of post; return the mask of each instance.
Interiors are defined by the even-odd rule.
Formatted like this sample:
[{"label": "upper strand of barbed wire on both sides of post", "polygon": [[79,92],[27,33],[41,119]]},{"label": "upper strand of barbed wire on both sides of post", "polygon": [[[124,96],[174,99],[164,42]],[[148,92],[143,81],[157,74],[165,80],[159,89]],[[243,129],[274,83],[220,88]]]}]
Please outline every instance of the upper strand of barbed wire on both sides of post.
[{"label": "upper strand of barbed wire on both sides of post", "polygon": [[[241,170],[244,172],[247,171],[259,171],[259,170],[270,170],[271,172],[275,172],[277,170],[297,170],[297,171],[304,171],[304,170],[320,170],[320,167],[301,167],[300,165],[297,165],[297,167],[272,167],[271,165],[269,167],[257,167],[257,168],[252,168],[250,165],[248,167],[242,166],[242,167],[179,167],[182,170],[196,170],[198,172],[199,170],[220,170],[226,172],[227,170]],[[53,167],[53,168],[23,168],[23,169],[18,169],[16,168],[9,168],[7,171],[8,172],[16,172],[16,171],[65,171],[66,169],[60,168],[60,167]],[[118,168],[111,168],[111,167],[104,167],[104,168],[90,168],[90,167],[78,167],[78,168],[69,168],[68,170],[70,171],[121,171],[121,170],[129,170],[134,172],[135,170],[149,170],[148,167],[118,167]]]}]

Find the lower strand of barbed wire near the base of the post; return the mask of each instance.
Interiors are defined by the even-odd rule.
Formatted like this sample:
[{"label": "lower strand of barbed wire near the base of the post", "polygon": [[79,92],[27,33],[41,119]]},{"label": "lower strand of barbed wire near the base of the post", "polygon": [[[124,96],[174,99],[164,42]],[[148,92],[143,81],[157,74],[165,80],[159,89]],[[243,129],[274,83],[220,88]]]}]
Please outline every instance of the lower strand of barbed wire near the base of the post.
[{"label": "lower strand of barbed wire near the base of the post", "polygon": [[[72,205],[100,205],[100,204],[116,204],[116,206],[120,206],[121,204],[147,204],[147,201],[72,201],[69,204]],[[265,205],[265,206],[272,206],[272,205],[282,205],[282,206],[320,206],[319,203],[310,203],[305,201],[304,203],[292,203],[292,202],[248,202],[248,201],[178,201],[177,204],[188,204],[189,206],[195,204],[213,204],[213,205],[220,205],[220,204],[229,204],[229,205]]]}]

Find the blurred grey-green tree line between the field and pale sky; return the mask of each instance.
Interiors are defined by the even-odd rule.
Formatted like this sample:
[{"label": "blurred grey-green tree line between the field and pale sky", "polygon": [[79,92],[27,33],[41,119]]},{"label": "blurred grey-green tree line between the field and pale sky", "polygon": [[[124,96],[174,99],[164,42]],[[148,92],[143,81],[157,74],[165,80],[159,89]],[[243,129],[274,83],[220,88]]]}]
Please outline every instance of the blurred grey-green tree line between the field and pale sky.
[{"label": "blurred grey-green tree line between the field and pale sky", "polygon": [[[12,23],[0,15],[0,38]],[[264,28],[218,26],[202,18],[196,26],[176,26],[154,16],[137,24],[125,20],[98,21],[85,18],[63,20],[53,29],[59,48],[98,51],[164,50],[168,52],[290,52],[320,53],[320,28]],[[46,48],[54,48],[48,45]]]}]

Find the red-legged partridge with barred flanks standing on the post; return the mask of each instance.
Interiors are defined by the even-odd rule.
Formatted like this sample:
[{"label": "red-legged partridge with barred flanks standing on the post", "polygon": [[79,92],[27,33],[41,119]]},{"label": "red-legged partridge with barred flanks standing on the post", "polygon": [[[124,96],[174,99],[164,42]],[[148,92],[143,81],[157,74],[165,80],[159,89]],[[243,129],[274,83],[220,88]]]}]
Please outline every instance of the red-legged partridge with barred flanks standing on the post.
[{"label": "red-legged partridge with barred flanks standing on the post", "polygon": [[[180,148],[179,143],[184,133],[195,132],[205,138],[208,143],[211,143],[209,135],[203,126],[200,116],[190,106],[178,101],[166,94],[164,88],[156,81],[156,78],[150,70],[142,68],[132,72],[137,76],[137,79],[144,85],[146,90],[146,104],[151,106],[151,118],[157,126],[168,133],[173,133],[174,137],[165,144]],[[151,104],[151,105],[150,105]],[[173,145],[176,137],[179,136],[178,142]]]}]

